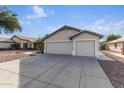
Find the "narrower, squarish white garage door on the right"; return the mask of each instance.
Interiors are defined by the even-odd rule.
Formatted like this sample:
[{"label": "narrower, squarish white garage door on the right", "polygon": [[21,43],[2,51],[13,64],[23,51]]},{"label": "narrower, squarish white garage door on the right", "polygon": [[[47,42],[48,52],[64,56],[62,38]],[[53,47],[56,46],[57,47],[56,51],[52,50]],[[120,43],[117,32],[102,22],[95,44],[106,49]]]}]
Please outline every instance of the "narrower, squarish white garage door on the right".
[{"label": "narrower, squarish white garage door on the right", "polygon": [[85,40],[76,41],[76,55],[78,56],[95,56],[95,41]]}]

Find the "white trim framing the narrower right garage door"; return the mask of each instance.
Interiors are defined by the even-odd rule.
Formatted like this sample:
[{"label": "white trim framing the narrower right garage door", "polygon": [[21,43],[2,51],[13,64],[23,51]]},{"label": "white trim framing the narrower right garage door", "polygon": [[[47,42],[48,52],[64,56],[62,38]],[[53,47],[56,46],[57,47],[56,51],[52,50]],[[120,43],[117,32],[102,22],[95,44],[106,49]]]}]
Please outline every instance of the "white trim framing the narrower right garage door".
[{"label": "white trim framing the narrower right garage door", "polygon": [[74,55],[74,56],[76,55],[76,45],[75,45],[75,44],[76,44],[77,41],[94,41],[94,43],[95,43],[95,45],[94,45],[94,47],[95,47],[95,55],[94,55],[94,56],[95,56],[95,57],[98,56],[98,55],[97,55],[97,46],[98,46],[98,45],[97,45],[97,40],[96,40],[96,39],[77,39],[77,40],[74,40],[74,45],[73,45],[73,46],[74,46],[74,47],[73,47],[73,48],[74,48],[74,49],[73,49],[73,51],[74,51],[74,54],[73,54],[73,55]]}]

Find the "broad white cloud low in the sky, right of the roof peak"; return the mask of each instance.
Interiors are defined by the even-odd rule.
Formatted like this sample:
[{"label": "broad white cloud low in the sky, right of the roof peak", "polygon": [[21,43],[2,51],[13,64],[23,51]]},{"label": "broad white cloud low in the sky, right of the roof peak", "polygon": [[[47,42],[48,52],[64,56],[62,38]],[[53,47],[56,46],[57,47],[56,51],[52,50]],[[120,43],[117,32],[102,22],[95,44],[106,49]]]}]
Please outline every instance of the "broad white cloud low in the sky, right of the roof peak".
[{"label": "broad white cloud low in the sky, right of the roof peak", "polygon": [[116,21],[116,22],[109,22],[103,18],[84,28],[98,32],[98,33],[102,33],[105,35],[108,35],[111,33],[122,34],[124,31],[124,20]]}]

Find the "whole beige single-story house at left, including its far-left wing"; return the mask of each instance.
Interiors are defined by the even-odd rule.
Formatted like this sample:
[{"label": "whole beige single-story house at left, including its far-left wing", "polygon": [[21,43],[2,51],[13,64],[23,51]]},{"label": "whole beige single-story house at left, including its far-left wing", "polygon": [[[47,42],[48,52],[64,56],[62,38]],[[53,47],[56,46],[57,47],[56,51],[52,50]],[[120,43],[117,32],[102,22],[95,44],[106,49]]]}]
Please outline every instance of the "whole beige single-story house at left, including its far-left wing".
[{"label": "whole beige single-story house at left, including its far-left wing", "polygon": [[35,41],[37,39],[27,36],[14,35],[11,38],[0,38],[0,49],[9,49],[12,44],[18,44],[19,49],[36,48]]}]

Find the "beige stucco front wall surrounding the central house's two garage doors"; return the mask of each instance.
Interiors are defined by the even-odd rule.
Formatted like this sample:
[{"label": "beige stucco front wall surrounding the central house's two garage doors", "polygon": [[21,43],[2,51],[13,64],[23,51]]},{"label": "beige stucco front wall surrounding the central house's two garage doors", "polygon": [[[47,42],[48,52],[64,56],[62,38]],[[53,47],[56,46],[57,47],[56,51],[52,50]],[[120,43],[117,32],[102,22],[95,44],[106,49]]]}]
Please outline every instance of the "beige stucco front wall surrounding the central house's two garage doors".
[{"label": "beige stucco front wall surrounding the central house's two garage doors", "polygon": [[[68,41],[70,40],[69,37],[75,35],[79,33],[78,31],[75,31],[75,30],[63,30],[63,31],[59,31],[57,33],[55,33],[54,35],[50,36],[49,38],[45,39],[45,46],[44,46],[44,52],[46,53],[46,50],[47,50],[47,47],[46,47],[46,43],[48,42],[62,42],[62,41]],[[72,47],[70,47],[70,53],[74,53],[74,41],[75,40],[85,40],[85,39],[92,39],[92,40],[95,40],[95,56],[99,56],[99,36],[96,36],[96,35],[93,35],[93,34],[90,34],[90,33],[82,33],[76,37],[73,38],[73,40],[70,40],[73,44]],[[93,46],[94,47],[94,46]],[[55,47],[55,49],[59,49]]]}]

